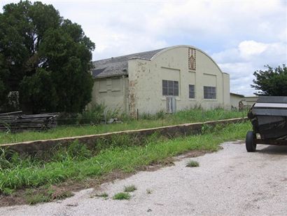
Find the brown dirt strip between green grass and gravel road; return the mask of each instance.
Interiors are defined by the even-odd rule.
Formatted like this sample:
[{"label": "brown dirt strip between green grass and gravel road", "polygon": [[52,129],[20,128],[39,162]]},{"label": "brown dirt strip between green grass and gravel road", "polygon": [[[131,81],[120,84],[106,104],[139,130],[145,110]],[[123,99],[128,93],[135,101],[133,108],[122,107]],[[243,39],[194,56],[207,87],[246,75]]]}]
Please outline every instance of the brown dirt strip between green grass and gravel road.
[{"label": "brown dirt strip between green grass and gravel road", "polygon": [[188,153],[183,154],[178,157],[166,158],[164,161],[159,161],[151,163],[149,166],[139,166],[136,171],[132,173],[124,172],[123,170],[113,170],[113,172],[103,175],[102,177],[97,178],[87,178],[86,180],[76,181],[76,180],[67,180],[61,184],[52,185],[50,187],[38,187],[32,189],[19,189],[11,195],[0,194],[0,207],[10,206],[10,205],[25,205],[31,204],[31,198],[35,196],[41,196],[42,199],[32,202],[32,204],[57,201],[69,196],[73,196],[73,192],[80,191],[82,189],[94,188],[97,191],[100,191],[101,184],[105,182],[113,182],[115,180],[123,180],[127,177],[130,177],[137,173],[137,171],[155,171],[160,168],[167,166],[174,166],[174,161],[179,161],[180,158],[189,158],[202,156],[212,151],[200,151],[193,150],[188,151]]}]

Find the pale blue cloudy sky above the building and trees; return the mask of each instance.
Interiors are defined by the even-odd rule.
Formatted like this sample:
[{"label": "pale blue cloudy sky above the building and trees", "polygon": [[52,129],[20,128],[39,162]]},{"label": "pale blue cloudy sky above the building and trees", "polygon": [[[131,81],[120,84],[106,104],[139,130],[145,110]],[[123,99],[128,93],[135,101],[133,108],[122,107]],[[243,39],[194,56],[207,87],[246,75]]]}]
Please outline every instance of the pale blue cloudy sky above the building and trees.
[{"label": "pale blue cloudy sky above the building and trees", "polygon": [[[0,7],[11,2],[18,1],[0,0]],[[242,95],[255,93],[253,72],[287,62],[285,0],[42,2],[82,26],[96,45],[93,60],[191,45],[230,74],[230,92]]]}]

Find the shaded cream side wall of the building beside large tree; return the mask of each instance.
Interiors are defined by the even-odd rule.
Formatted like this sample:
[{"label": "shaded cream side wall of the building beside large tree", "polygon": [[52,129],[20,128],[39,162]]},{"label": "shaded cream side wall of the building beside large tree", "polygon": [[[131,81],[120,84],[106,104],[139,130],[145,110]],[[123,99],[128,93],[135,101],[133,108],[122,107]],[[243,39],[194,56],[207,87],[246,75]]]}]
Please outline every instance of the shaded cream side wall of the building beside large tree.
[{"label": "shaded cream side wall of the building beside large tree", "polygon": [[91,104],[105,104],[109,109],[128,112],[127,92],[128,79],[125,76],[94,79]]}]

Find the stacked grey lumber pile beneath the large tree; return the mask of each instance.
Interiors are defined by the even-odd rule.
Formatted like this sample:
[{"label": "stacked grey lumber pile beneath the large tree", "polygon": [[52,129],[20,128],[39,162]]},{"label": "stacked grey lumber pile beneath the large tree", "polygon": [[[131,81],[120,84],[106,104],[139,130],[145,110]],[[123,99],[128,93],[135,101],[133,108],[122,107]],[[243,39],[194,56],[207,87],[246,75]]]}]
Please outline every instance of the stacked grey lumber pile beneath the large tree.
[{"label": "stacked grey lumber pile beneath the large tree", "polygon": [[47,130],[57,126],[57,114],[25,115],[22,111],[0,114],[0,131]]}]

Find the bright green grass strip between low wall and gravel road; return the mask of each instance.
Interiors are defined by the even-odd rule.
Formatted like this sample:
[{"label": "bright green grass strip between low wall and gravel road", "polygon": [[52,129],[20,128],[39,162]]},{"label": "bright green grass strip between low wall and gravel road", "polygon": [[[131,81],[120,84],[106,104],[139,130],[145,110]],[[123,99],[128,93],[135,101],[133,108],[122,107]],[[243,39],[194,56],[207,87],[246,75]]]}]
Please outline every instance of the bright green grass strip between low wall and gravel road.
[{"label": "bright green grass strip between low wall and gravel road", "polygon": [[115,144],[99,149],[97,154],[84,147],[79,149],[78,145],[74,144],[71,149],[57,151],[55,157],[48,161],[31,156],[20,158],[17,154],[10,156],[9,160],[0,157],[0,193],[9,189],[35,188],[66,180],[81,181],[87,177],[102,177],[113,170],[132,173],[141,166],[162,163],[169,157],[189,150],[216,151],[218,144],[222,142],[244,139],[246,131],[250,129],[251,124],[246,122],[225,127],[216,126],[202,135],[177,137],[172,140],[151,136],[146,138],[144,145]]}]

